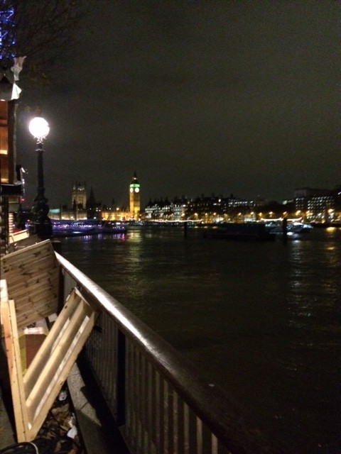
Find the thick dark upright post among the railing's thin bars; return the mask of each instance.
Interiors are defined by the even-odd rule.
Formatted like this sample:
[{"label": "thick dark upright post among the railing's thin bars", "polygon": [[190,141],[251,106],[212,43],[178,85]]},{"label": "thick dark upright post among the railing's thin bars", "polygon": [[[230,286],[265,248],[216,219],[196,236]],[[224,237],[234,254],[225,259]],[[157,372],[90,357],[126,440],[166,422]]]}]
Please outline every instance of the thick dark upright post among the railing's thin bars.
[{"label": "thick dark upright post among the railing's thin bars", "polygon": [[117,333],[117,425],[126,422],[126,336],[120,330]]}]

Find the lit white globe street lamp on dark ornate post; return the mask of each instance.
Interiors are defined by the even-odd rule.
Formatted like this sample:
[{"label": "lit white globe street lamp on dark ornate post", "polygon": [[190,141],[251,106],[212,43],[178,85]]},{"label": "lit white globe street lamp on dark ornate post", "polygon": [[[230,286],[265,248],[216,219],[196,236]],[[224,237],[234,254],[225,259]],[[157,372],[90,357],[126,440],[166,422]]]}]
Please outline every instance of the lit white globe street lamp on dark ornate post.
[{"label": "lit white globe street lamp on dark ornate post", "polygon": [[33,233],[36,233],[42,240],[51,238],[52,236],[52,224],[48,217],[48,199],[45,198],[45,187],[44,187],[44,173],[43,173],[43,139],[50,132],[48,122],[36,116],[31,120],[28,129],[30,133],[36,138],[37,141],[37,195],[33,201]]}]

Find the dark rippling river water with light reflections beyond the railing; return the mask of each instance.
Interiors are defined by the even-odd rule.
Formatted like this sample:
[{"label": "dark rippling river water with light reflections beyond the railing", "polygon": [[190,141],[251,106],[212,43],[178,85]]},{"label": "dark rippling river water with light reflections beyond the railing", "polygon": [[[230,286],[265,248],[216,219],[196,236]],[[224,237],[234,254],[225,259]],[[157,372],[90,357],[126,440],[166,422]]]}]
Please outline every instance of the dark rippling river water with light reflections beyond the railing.
[{"label": "dark rippling river water with light reflections beyond the railing", "polygon": [[62,253],[275,441],[341,452],[341,229],[283,243],[141,227],[63,238]]}]

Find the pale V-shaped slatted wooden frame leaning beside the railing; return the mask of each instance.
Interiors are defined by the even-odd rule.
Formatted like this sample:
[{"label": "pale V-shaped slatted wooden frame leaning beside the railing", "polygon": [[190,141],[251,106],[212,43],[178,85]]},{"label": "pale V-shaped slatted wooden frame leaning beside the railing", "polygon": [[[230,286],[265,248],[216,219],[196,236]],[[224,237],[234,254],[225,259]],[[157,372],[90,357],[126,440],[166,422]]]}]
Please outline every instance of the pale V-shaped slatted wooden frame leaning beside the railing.
[{"label": "pale V-shaped slatted wooden frame leaning beside the railing", "polygon": [[[1,319],[18,442],[32,441],[89,336],[97,311],[74,289],[23,377],[16,309],[1,292]],[[4,294],[5,295],[5,294]]]}]

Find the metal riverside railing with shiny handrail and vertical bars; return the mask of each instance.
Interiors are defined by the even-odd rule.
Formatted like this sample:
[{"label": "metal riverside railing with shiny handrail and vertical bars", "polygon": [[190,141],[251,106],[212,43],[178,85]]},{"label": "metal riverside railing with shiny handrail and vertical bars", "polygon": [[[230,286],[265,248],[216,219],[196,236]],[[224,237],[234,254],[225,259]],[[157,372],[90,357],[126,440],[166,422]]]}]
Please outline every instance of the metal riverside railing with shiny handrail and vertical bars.
[{"label": "metal riverside railing with shiny handrail and vertical bars", "polygon": [[64,296],[77,287],[102,309],[84,355],[131,453],[285,452],[247,426],[222,389],[200,377],[178,351],[56,255]]}]

